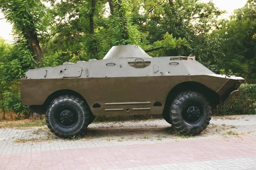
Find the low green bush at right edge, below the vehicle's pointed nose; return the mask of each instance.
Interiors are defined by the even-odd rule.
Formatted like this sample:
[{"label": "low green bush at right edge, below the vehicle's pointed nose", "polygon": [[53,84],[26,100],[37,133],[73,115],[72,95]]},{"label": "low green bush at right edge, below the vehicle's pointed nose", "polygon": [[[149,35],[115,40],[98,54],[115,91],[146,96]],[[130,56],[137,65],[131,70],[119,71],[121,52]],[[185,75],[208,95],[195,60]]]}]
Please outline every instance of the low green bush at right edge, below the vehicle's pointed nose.
[{"label": "low green bush at right edge, below the vehicle's pointed nose", "polygon": [[216,115],[256,114],[256,84],[243,84],[236,96],[218,106]]}]

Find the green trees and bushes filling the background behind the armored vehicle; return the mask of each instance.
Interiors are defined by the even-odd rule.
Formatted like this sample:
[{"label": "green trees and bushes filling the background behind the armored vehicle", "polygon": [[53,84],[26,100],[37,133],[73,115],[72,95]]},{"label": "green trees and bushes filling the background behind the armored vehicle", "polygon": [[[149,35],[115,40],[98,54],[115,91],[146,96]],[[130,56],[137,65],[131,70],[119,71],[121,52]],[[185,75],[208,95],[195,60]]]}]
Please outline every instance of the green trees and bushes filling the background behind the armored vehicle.
[{"label": "green trees and bushes filling the background behind the armored vehicle", "polygon": [[[248,0],[229,19],[220,20],[224,11],[211,1],[0,0],[0,11],[13,24],[15,37],[12,45],[0,38],[0,109],[16,113],[16,119],[30,115],[20,103],[19,85],[30,67],[102,59],[113,45],[164,45],[149,54],[193,54],[217,74],[237,73],[247,83],[256,83],[255,9],[255,0]],[[255,85],[240,90],[216,113],[255,114]]]}]

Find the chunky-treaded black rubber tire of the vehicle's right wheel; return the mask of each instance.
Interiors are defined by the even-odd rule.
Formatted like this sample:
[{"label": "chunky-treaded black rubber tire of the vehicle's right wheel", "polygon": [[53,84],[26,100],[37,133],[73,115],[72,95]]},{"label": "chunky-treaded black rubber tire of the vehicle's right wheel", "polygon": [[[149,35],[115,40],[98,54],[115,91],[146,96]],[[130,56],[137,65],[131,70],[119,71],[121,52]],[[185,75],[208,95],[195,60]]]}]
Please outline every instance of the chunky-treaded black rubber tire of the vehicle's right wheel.
[{"label": "chunky-treaded black rubber tire of the vehicle's right wheel", "polygon": [[[186,116],[183,116],[183,109],[187,108],[188,105],[194,105],[194,103],[201,108],[201,116],[198,116],[200,117],[198,118],[198,122],[193,124],[185,120],[186,118],[184,117]],[[187,111],[186,114],[188,114]],[[211,114],[211,107],[207,99],[202,94],[195,91],[184,91],[180,93],[175,97],[170,107],[170,121],[172,122],[172,125],[178,132],[186,135],[196,135],[201,133],[207,125],[209,125]]]}]

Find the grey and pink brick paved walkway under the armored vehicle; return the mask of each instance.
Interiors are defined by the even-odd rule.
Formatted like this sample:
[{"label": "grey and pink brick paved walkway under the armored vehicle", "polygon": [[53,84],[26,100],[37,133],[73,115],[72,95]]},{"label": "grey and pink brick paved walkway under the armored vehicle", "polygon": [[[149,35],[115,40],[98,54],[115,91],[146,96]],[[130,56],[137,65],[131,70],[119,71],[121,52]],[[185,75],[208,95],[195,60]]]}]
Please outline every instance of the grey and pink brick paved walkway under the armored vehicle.
[{"label": "grey and pink brick paved walkway under the armored vehicle", "polygon": [[256,170],[256,116],[215,117],[198,136],[164,120],[92,124],[64,140],[47,127],[0,129],[0,170]]}]

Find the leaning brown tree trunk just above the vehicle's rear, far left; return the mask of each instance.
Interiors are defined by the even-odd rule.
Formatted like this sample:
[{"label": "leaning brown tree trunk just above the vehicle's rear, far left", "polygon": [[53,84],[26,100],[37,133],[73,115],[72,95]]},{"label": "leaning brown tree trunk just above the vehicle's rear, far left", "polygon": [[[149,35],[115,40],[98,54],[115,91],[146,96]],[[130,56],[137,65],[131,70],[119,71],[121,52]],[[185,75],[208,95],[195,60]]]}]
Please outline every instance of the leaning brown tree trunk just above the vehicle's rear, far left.
[{"label": "leaning brown tree trunk just above the vehicle's rear, far left", "polygon": [[29,30],[29,28],[25,28],[25,36],[26,36],[29,48],[32,54],[35,56],[35,61],[37,62],[36,66],[38,66],[39,62],[41,62],[43,59],[43,54],[41,51],[41,47],[39,45],[38,37],[36,33]]}]

